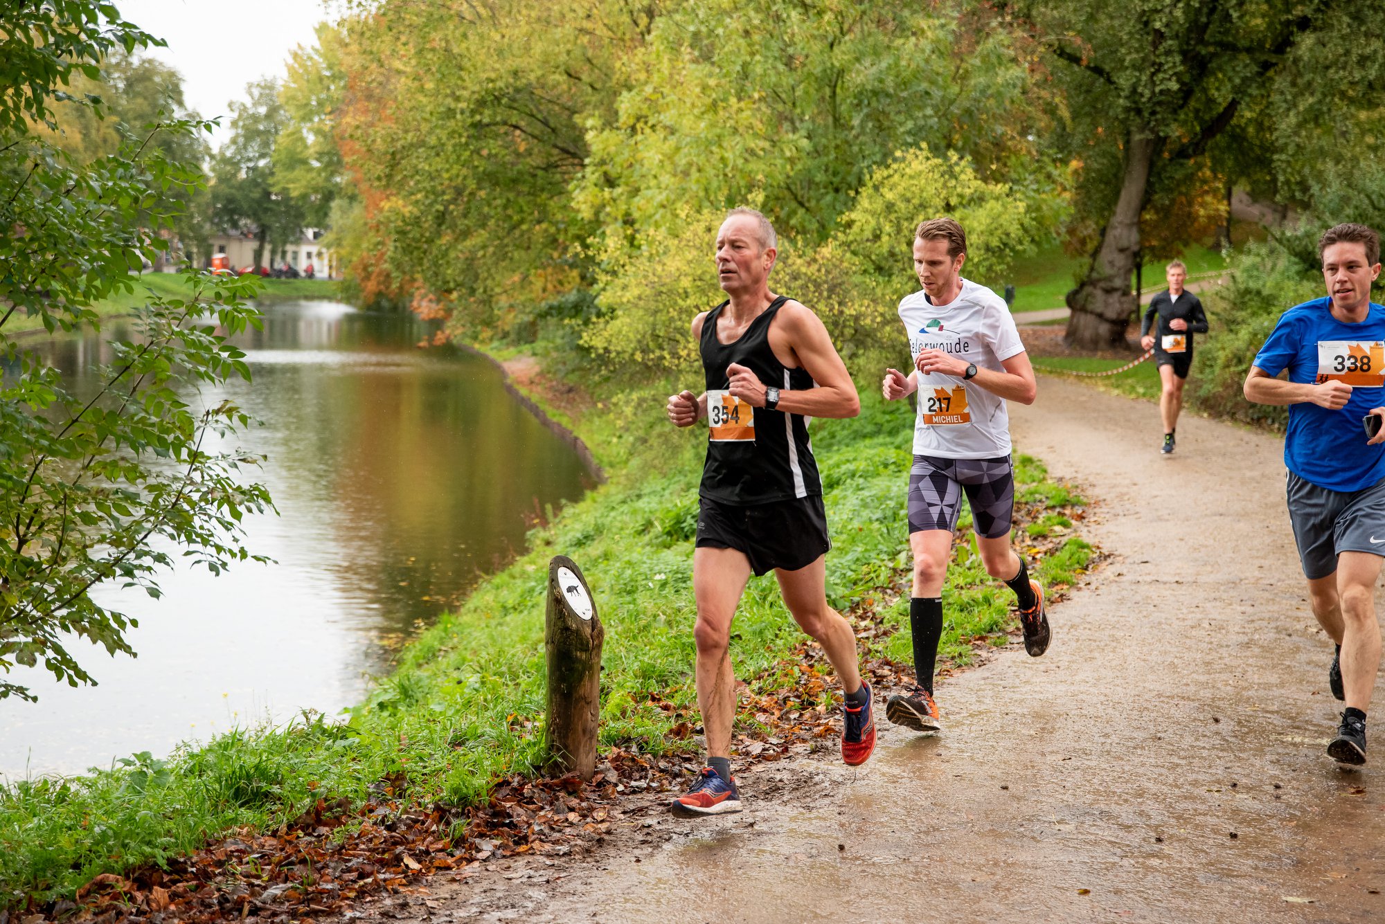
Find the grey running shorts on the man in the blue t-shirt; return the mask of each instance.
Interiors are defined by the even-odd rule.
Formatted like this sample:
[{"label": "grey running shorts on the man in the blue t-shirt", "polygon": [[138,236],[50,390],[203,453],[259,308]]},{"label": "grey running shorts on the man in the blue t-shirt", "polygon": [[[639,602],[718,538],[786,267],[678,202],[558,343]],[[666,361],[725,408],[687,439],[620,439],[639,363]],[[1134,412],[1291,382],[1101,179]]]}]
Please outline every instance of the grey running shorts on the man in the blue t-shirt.
[{"label": "grey running shorts on the man in the blue t-shirt", "polygon": [[1307,580],[1335,573],[1342,552],[1385,557],[1385,479],[1360,491],[1330,491],[1289,472],[1285,494]]}]

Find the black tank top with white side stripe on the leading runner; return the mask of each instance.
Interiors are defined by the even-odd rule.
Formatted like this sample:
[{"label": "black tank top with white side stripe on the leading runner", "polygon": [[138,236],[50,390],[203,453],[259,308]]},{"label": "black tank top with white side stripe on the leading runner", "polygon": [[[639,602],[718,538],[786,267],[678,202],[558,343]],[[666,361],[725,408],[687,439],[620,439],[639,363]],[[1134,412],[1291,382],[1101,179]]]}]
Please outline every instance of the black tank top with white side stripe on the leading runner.
[{"label": "black tank top with white side stripe on the leading runner", "polygon": [[[708,391],[730,387],[726,368],[733,362],[747,367],[766,386],[780,390],[814,386],[806,369],[785,367],[770,349],[770,322],[785,302],[788,297],[783,295],[774,299],[734,343],[716,339],[716,321],[730,303],[723,302],[708,311],[702,321],[702,368]],[[708,441],[701,495],[723,503],[748,505],[821,494],[823,480],[807,440],[812,418],[767,408],[753,408],[753,440]]]}]

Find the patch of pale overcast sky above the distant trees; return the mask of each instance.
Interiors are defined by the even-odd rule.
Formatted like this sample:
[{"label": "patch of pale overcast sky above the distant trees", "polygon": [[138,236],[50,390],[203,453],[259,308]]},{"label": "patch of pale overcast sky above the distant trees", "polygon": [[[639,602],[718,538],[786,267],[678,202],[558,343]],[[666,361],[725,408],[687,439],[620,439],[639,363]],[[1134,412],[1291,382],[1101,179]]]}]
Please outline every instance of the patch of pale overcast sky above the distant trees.
[{"label": "patch of pale overcast sky above the distant trees", "polygon": [[[206,119],[245,98],[245,84],[284,76],[298,46],[316,41],[313,26],[332,18],[332,0],[114,0],[125,19],[169,43],[148,54],[183,75],[187,105]],[[212,136],[226,140],[229,118]]]}]

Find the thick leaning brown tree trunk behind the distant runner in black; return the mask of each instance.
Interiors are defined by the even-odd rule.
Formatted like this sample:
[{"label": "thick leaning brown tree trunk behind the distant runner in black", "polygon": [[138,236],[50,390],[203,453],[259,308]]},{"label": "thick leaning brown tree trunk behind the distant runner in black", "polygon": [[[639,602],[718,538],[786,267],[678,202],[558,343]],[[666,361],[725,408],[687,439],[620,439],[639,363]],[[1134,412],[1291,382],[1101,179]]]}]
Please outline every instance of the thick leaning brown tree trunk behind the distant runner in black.
[{"label": "thick leaning brown tree trunk behind the distant runner in black", "polygon": [[1083,350],[1123,347],[1130,317],[1140,300],[1130,292],[1130,272],[1140,249],[1140,212],[1150,185],[1156,140],[1130,133],[1126,141],[1120,196],[1091,259],[1087,278],[1068,293],[1068,331],[1064,343]]}]

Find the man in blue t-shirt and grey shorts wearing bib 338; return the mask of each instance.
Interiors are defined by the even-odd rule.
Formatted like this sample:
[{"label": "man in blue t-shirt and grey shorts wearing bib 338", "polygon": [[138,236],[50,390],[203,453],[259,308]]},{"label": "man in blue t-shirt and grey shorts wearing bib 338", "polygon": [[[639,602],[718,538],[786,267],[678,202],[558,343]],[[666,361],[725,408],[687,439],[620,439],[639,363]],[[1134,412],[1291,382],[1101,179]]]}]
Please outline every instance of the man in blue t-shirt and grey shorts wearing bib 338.
[{"label": "man in blue t-shirt and grey shorts wearing bib 338", "polygon": [[[1280,315],[1245,397],[1289,407],[1289,521],[1313,616],[1337,642],[1328,683],[1346,705],[1327,752],[1364,764],[1366,710],[1381,661],[1375,581],[1385,556],[1385,307],[1370,299],[1381,242],[1363,224],[1339,224],[1317,249],[1327,297]],[[1276,378],[1285,369],[1288,380]]]}]

